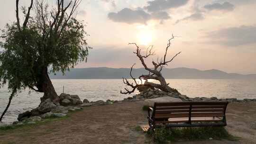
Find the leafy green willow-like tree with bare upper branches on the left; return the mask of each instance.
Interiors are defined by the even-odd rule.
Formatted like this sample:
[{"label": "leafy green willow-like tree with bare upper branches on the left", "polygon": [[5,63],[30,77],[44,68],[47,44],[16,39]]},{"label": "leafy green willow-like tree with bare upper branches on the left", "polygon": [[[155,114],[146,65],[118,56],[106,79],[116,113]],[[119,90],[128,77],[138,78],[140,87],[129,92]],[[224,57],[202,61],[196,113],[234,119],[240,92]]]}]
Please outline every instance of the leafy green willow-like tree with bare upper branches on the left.
[{"label": "leafy green willow-like tree with bare upper branches on the left", "polygon": [[4,48],[0,52],[0,86],[8,83],[10,98],[29,88],[44,93],[41,102],[59,101],[48,73],[64,73],[79,61],[86,61],[91,48],[86,43],[85,25],[74,17],[81,1],[57,0],[49,9],[44,0],[31,0],[28,9],[21,9],[21,25],[16,0],[17,21],[2,30],[0,43]]}]

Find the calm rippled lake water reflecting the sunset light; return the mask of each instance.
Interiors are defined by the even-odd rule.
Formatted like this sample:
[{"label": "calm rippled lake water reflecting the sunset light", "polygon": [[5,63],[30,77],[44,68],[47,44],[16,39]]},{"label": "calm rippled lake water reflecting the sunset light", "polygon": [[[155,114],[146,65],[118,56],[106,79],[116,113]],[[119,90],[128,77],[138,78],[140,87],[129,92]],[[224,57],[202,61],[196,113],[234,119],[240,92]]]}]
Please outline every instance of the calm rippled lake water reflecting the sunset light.
[{"label": "calm rippled lake water reflecting the sunset light", "polygon": [[[96,100],[121,100],[131,95],[122,95],[125,85],[122,80],[98,80],[98,79],[79,79],[79,80],[52,80],[58,94],[64,92],[79,95],[81,99],[89,101]],[[217,97],[217,98],[256,98],[256,80],[187,80],[169,79],[166,80],[170,86],[179,90],[182,94],[189,97]],[[3,119],[4,122],[17,120],[18,114],[39,105],[42,93],[28,90],[22,91],[12,100],[11,106]],[[9,92],[6,88],[0,89],[0,113],[8,103]]]}]

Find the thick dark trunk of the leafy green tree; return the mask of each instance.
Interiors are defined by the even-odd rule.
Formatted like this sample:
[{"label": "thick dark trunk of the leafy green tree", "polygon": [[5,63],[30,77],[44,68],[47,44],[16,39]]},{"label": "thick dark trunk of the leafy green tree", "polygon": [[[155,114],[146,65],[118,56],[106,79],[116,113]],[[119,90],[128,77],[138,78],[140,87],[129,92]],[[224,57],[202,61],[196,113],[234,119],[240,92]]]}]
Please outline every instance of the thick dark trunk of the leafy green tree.
[{"label": "thick dark trunk of the leafy green tree", "polygon": [[46,99],[51,99],[55,103],[59,102],[59,97],[54,89],[52,81],[49,78],[47,67],[43,68],[42,70],[37,89],[44,92],[44,96],[41,98],[41,102],[45,101]]}]

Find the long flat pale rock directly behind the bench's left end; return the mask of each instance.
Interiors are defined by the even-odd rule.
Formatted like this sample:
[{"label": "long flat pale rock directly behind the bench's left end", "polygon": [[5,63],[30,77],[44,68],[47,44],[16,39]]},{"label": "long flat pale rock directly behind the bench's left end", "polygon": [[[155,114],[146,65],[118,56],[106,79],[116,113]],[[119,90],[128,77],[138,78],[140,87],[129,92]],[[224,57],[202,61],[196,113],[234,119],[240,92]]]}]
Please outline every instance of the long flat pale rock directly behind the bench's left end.
[{"label": "long flat pale rock directly behind the bench's left end", "polygon": [[155,102],[180,102],[181,99],[173,98],[173,97],[160,97],[155,99],[145,99],[144,106],[154,107]]}]

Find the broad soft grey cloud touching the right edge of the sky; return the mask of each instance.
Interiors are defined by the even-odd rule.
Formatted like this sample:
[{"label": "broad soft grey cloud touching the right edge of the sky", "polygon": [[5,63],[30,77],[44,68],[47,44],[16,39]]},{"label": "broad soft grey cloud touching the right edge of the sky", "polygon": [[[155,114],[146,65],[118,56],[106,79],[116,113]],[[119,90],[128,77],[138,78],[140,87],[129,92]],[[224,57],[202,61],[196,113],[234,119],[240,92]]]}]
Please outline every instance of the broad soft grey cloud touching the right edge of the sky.
[{"label": "broad soft grey cloud touching the right edge of the sky", "polygon": [[256,26],[229,27],[207,33],[211,43],[239,46],[256,43]]}]

